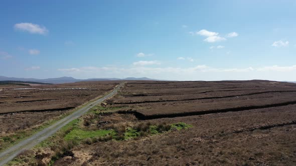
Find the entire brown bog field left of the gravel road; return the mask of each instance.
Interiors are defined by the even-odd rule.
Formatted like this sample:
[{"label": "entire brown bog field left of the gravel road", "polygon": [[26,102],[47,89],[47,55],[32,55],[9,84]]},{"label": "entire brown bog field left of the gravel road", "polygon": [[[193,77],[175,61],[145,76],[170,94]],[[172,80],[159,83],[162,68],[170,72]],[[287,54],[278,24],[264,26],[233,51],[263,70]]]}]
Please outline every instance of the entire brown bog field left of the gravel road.
[{"label": "entire brown bog field left of the gravel road", "polygon": [[118,81],[0,85],[0,135],[41,124],[112,90]]}]

